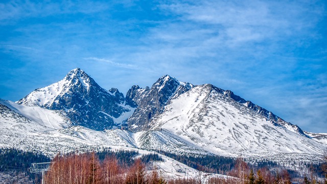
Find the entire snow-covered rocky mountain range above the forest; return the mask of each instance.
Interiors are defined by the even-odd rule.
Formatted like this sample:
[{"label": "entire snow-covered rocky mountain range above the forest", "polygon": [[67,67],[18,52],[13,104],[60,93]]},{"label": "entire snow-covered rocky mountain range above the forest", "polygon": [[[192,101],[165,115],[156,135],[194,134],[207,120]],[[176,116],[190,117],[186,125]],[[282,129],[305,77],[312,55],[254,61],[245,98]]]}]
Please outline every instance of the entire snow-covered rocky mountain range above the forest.
[{"label": "entire snow-covered rocky mountain range above the forest", "polygon": [[0,146],[55,154],[99,146],[319,162],[327,133],[303,131],[212,84],[169,75],[126,96],[80,68],[17,102],[0,100]]}]

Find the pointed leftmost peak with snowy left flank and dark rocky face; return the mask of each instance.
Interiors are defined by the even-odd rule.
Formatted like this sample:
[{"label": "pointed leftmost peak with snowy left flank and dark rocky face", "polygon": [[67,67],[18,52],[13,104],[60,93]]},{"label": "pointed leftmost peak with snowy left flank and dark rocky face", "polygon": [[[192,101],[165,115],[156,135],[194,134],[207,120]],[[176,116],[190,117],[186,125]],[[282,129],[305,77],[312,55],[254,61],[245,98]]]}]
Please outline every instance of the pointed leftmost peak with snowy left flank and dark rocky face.
[{"label": "pointed leftmost peak with snowy left flank and dark rocky face", "polygon": [[17,103],[64,110],[75,125],[95,130],[120,125],[133,110],[125,105],[124,95],[118,89],[103,89],[80,68],[70,71],[59,82],[35,89]]}]

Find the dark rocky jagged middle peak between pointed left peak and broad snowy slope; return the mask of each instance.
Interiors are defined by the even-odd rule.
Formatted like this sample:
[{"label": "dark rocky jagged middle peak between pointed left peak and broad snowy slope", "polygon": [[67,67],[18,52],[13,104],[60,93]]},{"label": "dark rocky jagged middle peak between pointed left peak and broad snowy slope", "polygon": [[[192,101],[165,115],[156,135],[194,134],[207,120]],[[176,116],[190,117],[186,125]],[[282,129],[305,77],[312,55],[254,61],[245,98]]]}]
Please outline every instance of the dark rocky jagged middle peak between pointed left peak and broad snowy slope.
[{"label": "dark rocky jagged middle peak between pointed left peak and broad snowy slope", "polygon": [[150,122],[164,110],[171,99],[192,87],[192,84],[180,82],[169,75],[159,78],[151,88],[132,86],[127,92],[126,102],[136,109],[127,120],[129,130],[136,132],[149,129]]}]

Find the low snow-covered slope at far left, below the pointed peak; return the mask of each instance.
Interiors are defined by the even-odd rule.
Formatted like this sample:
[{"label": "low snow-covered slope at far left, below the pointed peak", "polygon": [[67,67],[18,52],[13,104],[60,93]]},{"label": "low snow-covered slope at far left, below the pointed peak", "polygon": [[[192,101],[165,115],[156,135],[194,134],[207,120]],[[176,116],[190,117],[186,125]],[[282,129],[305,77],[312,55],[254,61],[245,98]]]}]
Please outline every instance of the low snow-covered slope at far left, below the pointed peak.
[{"label": "low snow-covered slope at far left, below the pointed peak", "polygon": [[49,155],[112,145],[136,148],[131,132],[73,126],[62,110],[4,100],[0,100],[0,127],[0,147],[36,150]]}]

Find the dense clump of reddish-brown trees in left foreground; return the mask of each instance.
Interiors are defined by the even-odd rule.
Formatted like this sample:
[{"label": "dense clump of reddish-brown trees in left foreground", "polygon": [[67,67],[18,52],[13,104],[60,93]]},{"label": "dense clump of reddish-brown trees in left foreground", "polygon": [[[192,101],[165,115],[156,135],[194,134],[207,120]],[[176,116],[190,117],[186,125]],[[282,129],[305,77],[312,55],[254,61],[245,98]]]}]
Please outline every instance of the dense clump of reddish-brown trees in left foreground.
[{"label": "dense clump of reddish-brown trees in left foreground", "polygon": [[[143,159],[151,160],[145,157]],[[52,160],[50,171],[45,175],[45,183],[160,184],[166,182],[157,170],[147,173],[146,163],[142,162],[142,158],[134,159],[132,164],[126,164],[120,162],[115,154],[106,155],[103,160],[100,160],[96,152],[86,152],[56,155]]]}]

